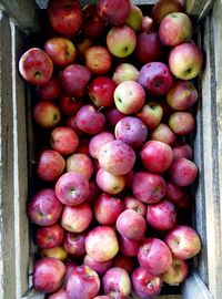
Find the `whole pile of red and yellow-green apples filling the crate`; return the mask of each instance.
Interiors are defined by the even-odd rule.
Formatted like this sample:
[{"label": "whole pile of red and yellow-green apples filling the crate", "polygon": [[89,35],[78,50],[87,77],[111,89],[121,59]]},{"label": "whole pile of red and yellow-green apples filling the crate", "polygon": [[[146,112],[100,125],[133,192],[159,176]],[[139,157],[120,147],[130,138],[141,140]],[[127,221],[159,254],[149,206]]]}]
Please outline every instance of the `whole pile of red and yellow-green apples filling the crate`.
[{"label": "whole pile of red and yellow-green apples filling the crate", "polygon": [[50,0],[51,35],[20,58],[38,99],[33,287],[48,298],[157,298],[201,249],[182,216],[203,54],[183,11],[181,0],[151,17],[130,0]]}]

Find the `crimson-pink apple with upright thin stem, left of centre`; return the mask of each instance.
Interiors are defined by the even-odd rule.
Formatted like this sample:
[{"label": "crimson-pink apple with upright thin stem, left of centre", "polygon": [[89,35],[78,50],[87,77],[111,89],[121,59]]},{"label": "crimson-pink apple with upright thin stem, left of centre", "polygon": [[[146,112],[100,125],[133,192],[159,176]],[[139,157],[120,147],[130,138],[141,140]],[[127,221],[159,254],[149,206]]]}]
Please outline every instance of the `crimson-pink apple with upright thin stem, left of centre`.
[{"label": "crimson-pink apple with upright thin stem, left of centre", "polygon": [[77,125],[87,134],[95,135],[100,133],[104,124],[104,114],[97,111],[93,105],[84,105],[77,113]]}]

